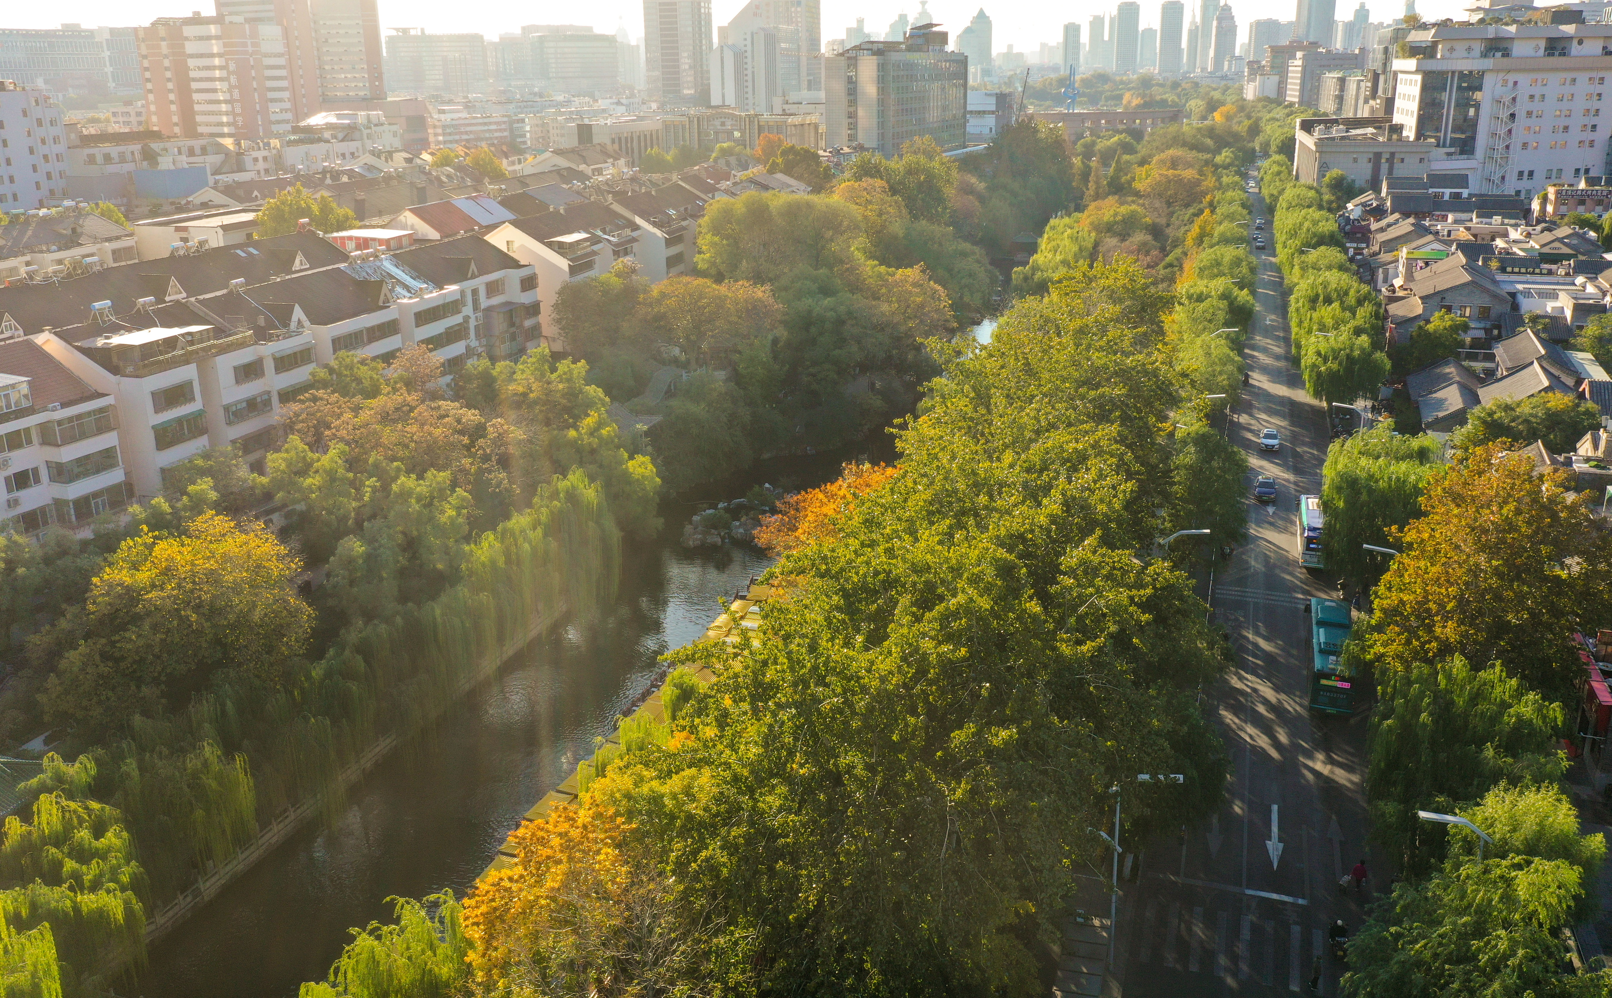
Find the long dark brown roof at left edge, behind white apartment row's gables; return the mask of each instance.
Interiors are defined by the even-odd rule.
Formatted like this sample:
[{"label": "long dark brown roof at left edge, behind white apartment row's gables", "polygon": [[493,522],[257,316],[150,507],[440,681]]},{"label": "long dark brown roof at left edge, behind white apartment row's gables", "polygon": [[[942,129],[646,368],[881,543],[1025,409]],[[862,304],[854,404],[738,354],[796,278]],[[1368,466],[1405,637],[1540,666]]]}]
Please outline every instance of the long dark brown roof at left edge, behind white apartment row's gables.
[{"label": "long dark brown roof at left edge, behind white apartment row's gables", "polygon": [[26,284],[0,289],[0,318],[11,316],[26,334],[45,326],[76,326],[90,319],[90,306],[111,301],[116,314],[134,311],[140,298],[166,301],[177,285],[187,297],[216,295],[240,277],[248,285],[295,272],[301,258],[306,269],[343,264],[345,250],[314,232],[293,232],[272,239],[256,239],[232,247],[218,247],[189,256],[163,256],[60,282]]}]

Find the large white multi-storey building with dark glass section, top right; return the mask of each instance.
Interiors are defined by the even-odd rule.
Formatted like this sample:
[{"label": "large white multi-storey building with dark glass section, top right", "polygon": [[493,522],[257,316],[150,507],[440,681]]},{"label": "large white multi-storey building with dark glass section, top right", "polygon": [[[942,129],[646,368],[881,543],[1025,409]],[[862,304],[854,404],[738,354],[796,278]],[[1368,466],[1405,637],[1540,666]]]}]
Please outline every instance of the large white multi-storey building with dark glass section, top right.
[{"label": "large white multi-storey building with dark glass section, top right", "polygon": [[1612,24],[1457,24],[1412,31],[1393,61],[1394,123],[1481,163],[1478,193],[1533,197],[1606,174]]}]

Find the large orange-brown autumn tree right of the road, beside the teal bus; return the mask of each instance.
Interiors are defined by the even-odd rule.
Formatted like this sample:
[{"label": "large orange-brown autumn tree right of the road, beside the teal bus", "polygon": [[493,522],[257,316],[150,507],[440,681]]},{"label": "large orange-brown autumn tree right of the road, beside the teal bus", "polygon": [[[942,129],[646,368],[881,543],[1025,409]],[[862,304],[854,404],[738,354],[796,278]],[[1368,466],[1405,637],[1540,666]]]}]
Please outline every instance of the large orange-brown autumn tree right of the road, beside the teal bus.
[{"label": "large orange-brown autumn tree right of the road, beside the teal bus", "polygon": [[1568,490],[1560,472],[1536,474],[1527,455],[1488,445],[1430,476],[1422,509],[1388,532],[1404,553],[1373,592],[1356,651],[1378,674],[1457,655],[1498,663],[1567,697],[1580,672],[1568,635],[1612,609],[1601,584],[1612,539],[1596,527],[1593,498]]}]

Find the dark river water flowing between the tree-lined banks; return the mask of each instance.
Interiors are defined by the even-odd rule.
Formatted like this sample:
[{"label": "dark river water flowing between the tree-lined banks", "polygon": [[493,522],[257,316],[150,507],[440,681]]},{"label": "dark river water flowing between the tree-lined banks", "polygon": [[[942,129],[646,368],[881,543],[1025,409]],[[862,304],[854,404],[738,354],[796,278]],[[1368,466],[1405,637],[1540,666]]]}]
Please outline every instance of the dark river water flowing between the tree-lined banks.
[{"label": "dark river water flowing between the tree-lined banks", "polygon": [[[874,443],[888,451],[883,440]],[[833,477],[854,453],[762,463],[746,480],[688,498],[737,498],[756,482]],[[888,453],[879,455],[890,459]],[[593,621],[534,642],[414,745],[171,932],[126,995],[287,998],[322,980],[350,927],[390,917],[388,896],[461,895],[505,837],[606,735],[653,679],[659,656],[704,632],[733,592],[771,564],[748,547],[687,551],[698,505],[667,503],[656,543],[627,545],[616,600]]]}]

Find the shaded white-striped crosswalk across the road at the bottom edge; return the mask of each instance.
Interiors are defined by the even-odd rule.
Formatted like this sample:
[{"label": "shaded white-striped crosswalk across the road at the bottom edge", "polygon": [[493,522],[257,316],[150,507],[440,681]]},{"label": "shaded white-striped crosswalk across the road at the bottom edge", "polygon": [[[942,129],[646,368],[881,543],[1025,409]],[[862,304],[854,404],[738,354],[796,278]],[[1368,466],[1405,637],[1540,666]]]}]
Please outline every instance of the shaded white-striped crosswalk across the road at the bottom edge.
[{"label": "shaded white-striped crosswalk across the road at the bottom edge", "polygon": [[1141,993],[1169,992],[1167,979],[1156,974],[1161,969],[1220,977],[1240,990],[1262,985],[1294,993],[1309,993],[1317,969],[1328,982],[1338,971],[1330,967],[1323,929],[1280,911],[1267,917],[1246,909],[1215,911],[1191,900],[1149,898],[1132,942],[1127,990]]}]

